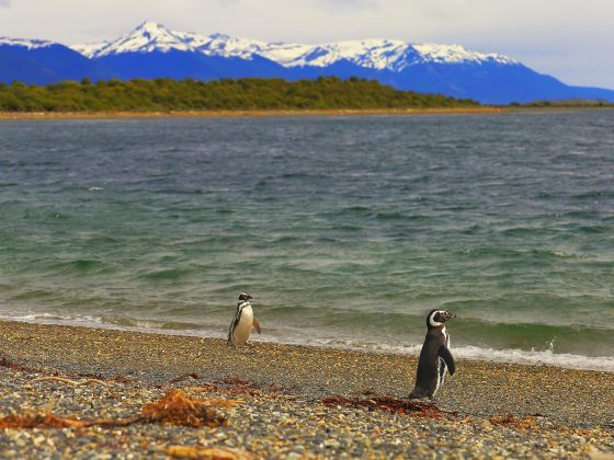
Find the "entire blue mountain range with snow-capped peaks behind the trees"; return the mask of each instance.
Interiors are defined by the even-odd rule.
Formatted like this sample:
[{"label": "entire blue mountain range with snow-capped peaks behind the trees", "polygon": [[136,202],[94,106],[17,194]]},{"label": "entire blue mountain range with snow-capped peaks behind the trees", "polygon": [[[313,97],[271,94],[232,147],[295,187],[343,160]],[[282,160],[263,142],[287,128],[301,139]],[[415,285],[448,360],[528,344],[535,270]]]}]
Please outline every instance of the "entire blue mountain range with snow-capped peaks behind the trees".
[{"label": "entire blue mountain range with snow-capped peaks behind the trees", "polygon": [[603,99],[614,91],[576,88],[499,54],[461,45],[363,39],[304,45],[223,34],[200,35],[145,22],[114,41],[72,45],[0,38],[0,82],[48,84],[117,78],[375,79],[399,90],[507,104],[533,100]]}]

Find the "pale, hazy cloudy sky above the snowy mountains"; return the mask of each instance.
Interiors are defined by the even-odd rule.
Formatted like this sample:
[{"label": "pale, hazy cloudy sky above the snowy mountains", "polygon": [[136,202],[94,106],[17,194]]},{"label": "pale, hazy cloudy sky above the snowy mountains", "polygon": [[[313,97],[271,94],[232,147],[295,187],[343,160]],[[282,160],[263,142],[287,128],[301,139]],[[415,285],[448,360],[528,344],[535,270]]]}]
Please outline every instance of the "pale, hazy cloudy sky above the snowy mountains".
[{"label": "pale, hazy cloudy sky above the snowy mountains", "polygon": [[614,88],[613,0],[0,0],[0,35],[98,42],[145,20],[280,42],[458,43]]}]

